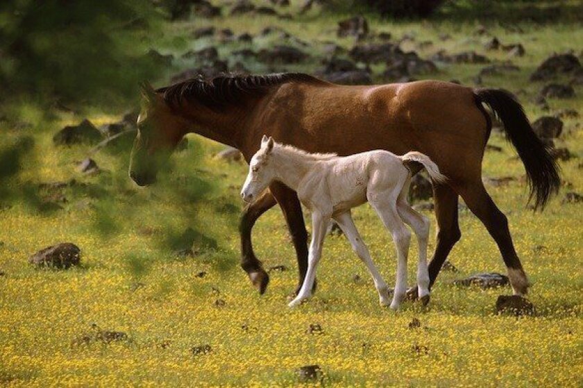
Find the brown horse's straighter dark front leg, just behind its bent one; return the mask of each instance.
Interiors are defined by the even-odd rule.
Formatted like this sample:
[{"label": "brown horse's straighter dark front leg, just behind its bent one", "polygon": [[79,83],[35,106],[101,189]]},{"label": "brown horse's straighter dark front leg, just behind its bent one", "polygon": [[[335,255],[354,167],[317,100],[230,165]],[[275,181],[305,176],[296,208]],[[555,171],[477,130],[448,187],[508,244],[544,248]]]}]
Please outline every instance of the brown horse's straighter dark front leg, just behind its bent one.
[{"label": "brown horse's straighter dark front leg, just behind its bent one", "polygon": [[[269,191],[276,197],[283,217],[287,222],[289,235],[292,236],[294,248],[296,248],[296,258],[298,260],[298,286],[292,297],[300,291],[307,271],[307,230],[305,230],[305,221],[302,213],[302,206],[298,199],[298,194],[282,183],[273,183],[269,186]],[[312,291],[316,289],[316,280]]]}]

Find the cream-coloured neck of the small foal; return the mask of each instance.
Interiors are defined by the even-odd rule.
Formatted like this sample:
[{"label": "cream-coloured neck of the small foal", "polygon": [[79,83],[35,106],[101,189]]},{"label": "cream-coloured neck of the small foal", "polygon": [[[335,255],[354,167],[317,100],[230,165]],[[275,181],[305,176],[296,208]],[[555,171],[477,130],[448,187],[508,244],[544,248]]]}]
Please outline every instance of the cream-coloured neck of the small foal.
[{"label": "cream-coloured neck of the small foal", "polygon": [[276,158],[276,179],[289,187],[297,190],[303,178],[314,168],[317,160],[307,158],[306,155],[294,153],[286,149],[276,149],[273,156]]}]

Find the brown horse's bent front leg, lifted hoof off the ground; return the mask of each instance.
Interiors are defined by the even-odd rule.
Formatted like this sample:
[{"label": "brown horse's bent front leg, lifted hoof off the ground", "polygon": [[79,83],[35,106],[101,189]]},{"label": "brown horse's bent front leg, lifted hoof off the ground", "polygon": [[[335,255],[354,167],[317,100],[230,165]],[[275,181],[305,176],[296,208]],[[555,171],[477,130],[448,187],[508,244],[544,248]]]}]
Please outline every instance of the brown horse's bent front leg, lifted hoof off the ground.
[{"label": "brown horse's bent front leg, lifted hoof off the ground", "polygon": [[273,198],[271,192],[266,190],[257,201],[248,205],[241,216],[239,222],[239,234],[241,236],[241,267],[247,273],[249,280],[260,294],[265,292],[267,284],[269,283],[269,275],[263,269],[263,266],[255,253],[253,252],[253,245],[251,244],[251,229],[255,225],[255,221],[264,212],[273,208],[276,204],[276,199]]}]

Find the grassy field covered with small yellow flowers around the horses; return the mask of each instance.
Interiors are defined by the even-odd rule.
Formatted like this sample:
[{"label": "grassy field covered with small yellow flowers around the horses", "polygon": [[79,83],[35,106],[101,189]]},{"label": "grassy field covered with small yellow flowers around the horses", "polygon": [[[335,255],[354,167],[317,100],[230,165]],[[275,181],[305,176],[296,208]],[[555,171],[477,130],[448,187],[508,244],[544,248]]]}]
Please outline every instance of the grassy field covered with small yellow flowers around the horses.
[{"label": "grassy field covered with small yellow flowers around the horses", "polygon": [[[289,12],[295,12],[298,3],[292,1]],[[311,44],[306,49],[311,60],[285,69],[313,72],[320,67],[322,42],[332,40],[347,49],[354,44],[353,39],[335,36],[336,22],[346,16],[312,10],[294,20],[224,16],[174,22],[162,36],[153,37],[153,45],[180,56],[212,44],[210,38],[189,37],[201,26],[231,28],[236,35],[280,26]],[[414,41],[402,46],[423,58],[446,49],[475,50],[500,62],[508,59],[506,53],[484,51],[488,37],[474,34],[480,22],[470,17],[390,22],[365,16],[375,33],[390,32],[395,40],[405,33],[414,35]],[[519,71],[484,77],[484,85],[515,92],[532,120],[564,108],[583,114],[582,87],[575,87],[573,99],[550,99],[550,111],[543,112],[534,97],[544,83],[528,81],[553,52],[581,49],[575,39],[583,34],[580,24],[512,20],[510,28],[495,19],[482,22],[503,43],[521,42],[526,51],[512,58]],[[522,32],[513,32],[516,27]],[[440,34],[451,39],[441,42]],[[432,40],[433,47],[418,49],[416,44],[424,40]],[[253,44],[219,45],[219,54],[232,65],[230,51],[276,43],[276,37],[258,37]],[[244,65],[268,70],[257,62]],[[184,66],[178,61],[173,71]],[[482,67],[449,65],[427,78],[455,78],[473,85]],[[382,69],[374,70],[379,74]],[[375,81],[381,82],[380,76]],[[120,112],[125,108],[130,107]],[[267,293],[259,296],[238,266],[238,193],[246,165],[213,158],[223,146],[189,135],[187,149],[175,153],[160,183],[142,189],[126,175],[128,142],[94,155],[103,170],[96,176],[85,176],[74,165],[90,146],[52,144],[53,133],[64,125],[85,117],[95,124],[119,117],[90,107],[76,113],[44,112],[27,103],[6,110],[11,119],[0,121],[1,160],[19,158],[19,169],[4,174],[8,178],[0,183],[2,385],[290,386],[299,383],[296,370],[309,364],[323,371],[312,384],[326,386],[583,385],[583,207],[561,202],[566,192],[583,192],[580,118],[564,119],[564,133],[556,144],[577,157],[560,162],[564,187],[542,214],[525,206],[524,170],[516,153],[500,135],[491,136],[490,144],[501,146],[502,152],[487,151],[484,176],[518,179],[487,188],[508,216],[533,283],[529,298],[536,315],[516,318],[494,312],[498,295],[512,293],[509,287],[484,291],[451,284],[477,272],[505,271],[493,240],[467,210],[460,211],[462,240],[450,255],[459,273],[440,274],[428,308],[411,302],[398,312],[380,307],[372,281],[346,239],[331,236],[323,251],[318,291],[308,303],[290,310],[286,296],[296,287],[295,253],[278,208],[258,221],[253,241],[266,268],[283,265],[287,270],[271,271]],[[6,151],[17,144],[22,152]],[[64,189],[39,191],[40,183],[71,178],[75,183]],[[43,205],[47,198],[58,201],[60,208]],[[432,213],[426,214],[434,228]],[[392,284],[396,258],[390,236],[368,206],[355,211],[355,221]],[[185,234],[187,228],[193,231]],[[193,239],[198,251],[194,258],[174,253]],[[56,242],[77,244],[83,264],[58,271],[27,263],[28,255]],[[430,252],[433,248],[432,238]],[[412,244],[409,257],[415,255]],[[355,275],[362,280],[355,281]],[[409,328],[414,319],[421,327]],[[310,332],[315,325],[321,330]],[[85,343],[84,336],[99,330],[127,337]],[[193,352],[195,347],[198,352]]]}]

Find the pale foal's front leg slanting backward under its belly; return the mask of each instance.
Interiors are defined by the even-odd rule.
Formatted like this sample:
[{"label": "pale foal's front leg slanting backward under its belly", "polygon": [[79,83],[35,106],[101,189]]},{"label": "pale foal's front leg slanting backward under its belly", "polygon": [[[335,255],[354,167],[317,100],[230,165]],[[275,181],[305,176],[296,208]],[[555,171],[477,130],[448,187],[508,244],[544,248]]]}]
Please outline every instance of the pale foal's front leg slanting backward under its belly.
[{"label": "pale foal's front leg slanting backward under its belly", "polygon": [[355,251],[360,260],[364,262],[366,268],[369,269],[369,273],[371,273],[371,276],[373,277],[375,288],[378,292],[380,305],[388,306],[390,303],[389,287],[387,286],[385,280],[383,280],[380,272],[375,266],[375,263],[371,259],[369,248],[366,248],[366,244],[364,244],[362,241],[362,237],[360,237],[360,233],[358,233],[350,211],[338,214],[334,217],[334,219],[337,221],[338,225],[344,232],[344,235],[346,235],[346,238],[348,238],[353,251]]}]

